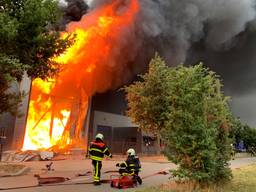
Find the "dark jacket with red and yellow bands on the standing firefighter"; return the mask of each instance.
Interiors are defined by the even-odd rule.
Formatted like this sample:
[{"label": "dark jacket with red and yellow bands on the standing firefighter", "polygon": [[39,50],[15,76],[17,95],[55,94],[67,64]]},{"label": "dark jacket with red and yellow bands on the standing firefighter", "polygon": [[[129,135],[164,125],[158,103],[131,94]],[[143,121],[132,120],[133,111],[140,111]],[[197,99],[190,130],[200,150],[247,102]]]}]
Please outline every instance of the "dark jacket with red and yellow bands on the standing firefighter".
[{"label": "dark jacket with red and yellow bands on the standing firefighter", "polygon": [[96,139],[90,143],[89,153],[90,158],[96,161],[102,161],[104,155],[112,157],[106,144],[99,139]]}]

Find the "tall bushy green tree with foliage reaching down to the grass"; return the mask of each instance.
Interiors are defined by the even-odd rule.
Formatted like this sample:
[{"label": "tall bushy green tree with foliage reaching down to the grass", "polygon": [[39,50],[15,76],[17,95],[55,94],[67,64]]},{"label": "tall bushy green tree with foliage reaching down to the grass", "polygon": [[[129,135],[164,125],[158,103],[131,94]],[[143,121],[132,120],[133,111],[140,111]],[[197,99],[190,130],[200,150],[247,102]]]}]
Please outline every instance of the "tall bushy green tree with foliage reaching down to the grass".
[{"label": "tall bushy green tree with foliage reaching down to the grass", "polygon": [[170,69],[171,112],[165,136],[173,175],[199,184],[231,178],[230,110],[218,76],[202,64]]}]

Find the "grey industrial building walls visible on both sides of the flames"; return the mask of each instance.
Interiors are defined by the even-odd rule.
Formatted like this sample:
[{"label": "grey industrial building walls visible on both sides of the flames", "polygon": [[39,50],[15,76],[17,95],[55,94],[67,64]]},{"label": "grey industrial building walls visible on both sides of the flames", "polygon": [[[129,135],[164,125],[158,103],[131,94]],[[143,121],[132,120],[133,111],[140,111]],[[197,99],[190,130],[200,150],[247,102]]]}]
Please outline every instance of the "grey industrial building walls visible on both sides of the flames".
[{"label": "grey industrial building walls visible on both sides of the flames", "polygon": [[[25,77],[16,89],[29,92],[30,79]],[[3,114],[0,119],[1,134],[6,136],[4,150],[20,150],[23,146],[26,118],[28,113],[29,94],[23,99],[21,117]],[[105,142],[114,154],[123,154],[133,147],[138,153],[156,153],[154,137],[143,133],[137,125],[125,115],[127,104],[125,94],[120,90],[95,94],[89,102],[88,112],[82,130],[85,146],[96,133],[104,134]]]}]

